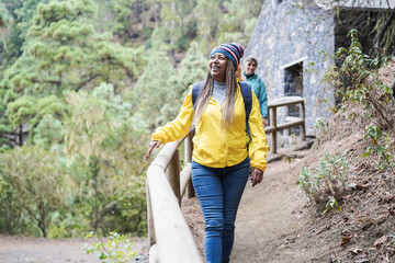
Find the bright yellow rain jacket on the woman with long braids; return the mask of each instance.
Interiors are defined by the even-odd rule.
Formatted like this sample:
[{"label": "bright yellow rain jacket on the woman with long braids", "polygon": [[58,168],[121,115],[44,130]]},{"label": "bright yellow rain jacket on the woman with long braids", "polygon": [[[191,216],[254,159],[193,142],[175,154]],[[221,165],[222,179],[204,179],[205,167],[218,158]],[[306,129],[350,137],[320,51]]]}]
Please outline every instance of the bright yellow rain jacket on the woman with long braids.
[{"label": "bright yellow rain jacket on the woman with long braids", "polygon": [[[242,162],[249,152],[251,167],[264,171],[269,147],[259,111],[259,102],[253,91],[251,93],[252,106],[248,122],[252,139],[249,144],[249,150],[247,150],[249,137],[246,132],[244,99],[240,87],[238,87],[235,95],[235,118],[230,127],[224,132],[222,132],[221,125],[221,105],[211,98],[202,118],[195,125],[192,155],[195,162],[210,168],[232,167]],[[184,99],[176,119],[157,128],[151,139],[159,140],[161,144],[181,139],[188,134],[193,116],[192,89],[190,89],[190,93]]]}]

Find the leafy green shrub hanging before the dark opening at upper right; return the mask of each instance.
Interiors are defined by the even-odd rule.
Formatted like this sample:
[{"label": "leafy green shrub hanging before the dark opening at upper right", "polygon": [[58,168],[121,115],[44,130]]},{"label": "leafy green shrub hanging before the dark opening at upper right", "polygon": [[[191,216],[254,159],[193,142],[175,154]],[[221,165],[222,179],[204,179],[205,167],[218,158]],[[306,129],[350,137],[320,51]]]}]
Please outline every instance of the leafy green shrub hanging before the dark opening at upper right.
[{"label": "leafy green shrub hanging before the dark opening at upper right", "polygon": [[380,81],[379,70],[395,57],[370,58],[362,53],[358,35],[358,31],[350,31],[350,48],[341,47],[336,52],[337,64],[323,76],[323,81],[335,89],[342,106],[361,105],[364,110],[363,118],[379,127],[393,128],[394,114],[386,112],[386,106],[394,105],[394,95],[391,87]]}]

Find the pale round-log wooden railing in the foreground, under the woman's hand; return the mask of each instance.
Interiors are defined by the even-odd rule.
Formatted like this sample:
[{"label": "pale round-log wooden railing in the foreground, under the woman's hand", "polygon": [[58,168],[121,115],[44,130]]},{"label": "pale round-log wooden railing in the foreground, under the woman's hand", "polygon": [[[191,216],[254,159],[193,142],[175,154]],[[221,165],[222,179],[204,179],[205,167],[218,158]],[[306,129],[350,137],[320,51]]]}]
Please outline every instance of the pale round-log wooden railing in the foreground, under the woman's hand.
[{"label": "pale round-log wooden railing in the foreground, under the woman's hand", "polygon": [[[179,146],[184,141],[184,165],[180,172]],[[180,204],[194,196],[191,183],[192,135],[169,142],[147,171],[147,214],[150,263],[203,263]]]}]

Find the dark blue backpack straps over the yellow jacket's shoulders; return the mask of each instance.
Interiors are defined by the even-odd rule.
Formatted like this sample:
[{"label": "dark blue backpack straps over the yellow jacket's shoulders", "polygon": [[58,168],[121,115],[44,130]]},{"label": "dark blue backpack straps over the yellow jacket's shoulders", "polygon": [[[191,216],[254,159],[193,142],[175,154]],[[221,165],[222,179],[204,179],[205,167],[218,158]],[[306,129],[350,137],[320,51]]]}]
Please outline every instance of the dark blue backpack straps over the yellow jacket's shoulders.
[{"label": "dark blue backpack straps over the yellow jacket's shoulders", "polygon": [[[200,95],[200,92],[202,91],[202,87],[203,87],[204,81],[200,81],[195,84],[193,84],[192,87],[192,104],[194,107],[194,104]],[[249,115],[251,113],[251,107],[252,107],[252,94],[251,94],[251,85],[247,82],[241,82],[239,81],[240,84],[240,90],[241,90],[241,95],[242,95],[242,101],[245,104],[245,111],[246,111],[246,129],[247,129],[247,134],[248,137],[251,138],[251,134],[250,134],[250,129],[249,129],[249,124],[248,124],[248,119],[249,119]]]}]

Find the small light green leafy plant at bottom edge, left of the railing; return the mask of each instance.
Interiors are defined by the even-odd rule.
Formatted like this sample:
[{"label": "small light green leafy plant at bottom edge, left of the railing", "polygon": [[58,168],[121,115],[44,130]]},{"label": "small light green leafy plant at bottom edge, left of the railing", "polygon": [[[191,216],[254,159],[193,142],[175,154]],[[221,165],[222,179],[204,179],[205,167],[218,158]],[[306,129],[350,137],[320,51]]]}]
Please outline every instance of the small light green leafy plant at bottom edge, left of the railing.
[{"label": "small light green leafy plant at bottom edge, left of the railing", "polygon": [[[92,247],[84,245],[87,254],[97,252],[100,262],[128,262],[136,258],[137,252],[132,251],[133,242],[124,235],[111,232],[108,241],[97,241]],[[90,232],[86,238],[92,238]]]}]

